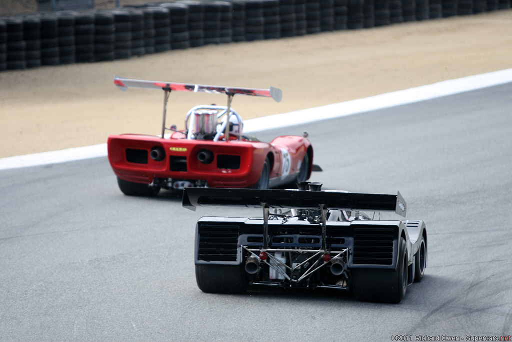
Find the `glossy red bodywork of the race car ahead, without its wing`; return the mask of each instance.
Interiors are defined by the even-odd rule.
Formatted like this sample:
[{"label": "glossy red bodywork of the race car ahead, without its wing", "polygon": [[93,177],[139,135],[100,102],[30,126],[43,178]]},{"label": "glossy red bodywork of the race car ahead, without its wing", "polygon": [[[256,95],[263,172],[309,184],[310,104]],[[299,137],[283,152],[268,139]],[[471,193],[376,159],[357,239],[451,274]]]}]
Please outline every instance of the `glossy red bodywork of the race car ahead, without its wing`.
[{"label": "glossy red bodywork of the race car ahead, without its wing", "polygon": [[[160,161],[150,157],[156,147],[163,149],[165,154]],[[271,164],[272,187],[293,181],[305,153],[310,153],[309,170],[313,160],[309,140],[291,135],[276,137],[268,144],[249,140],[193,140],[186,139],[180,132],[173,133],[170,138],[121,134],[109,136],[108,149],[112,169],[123,180],[145,184],[151,184],[153,178],[206,180],[212,188],[254,185],[267,156]],[[204,150],[212,152],[213,158],[208,164],[198,160],[198,153]]]}]

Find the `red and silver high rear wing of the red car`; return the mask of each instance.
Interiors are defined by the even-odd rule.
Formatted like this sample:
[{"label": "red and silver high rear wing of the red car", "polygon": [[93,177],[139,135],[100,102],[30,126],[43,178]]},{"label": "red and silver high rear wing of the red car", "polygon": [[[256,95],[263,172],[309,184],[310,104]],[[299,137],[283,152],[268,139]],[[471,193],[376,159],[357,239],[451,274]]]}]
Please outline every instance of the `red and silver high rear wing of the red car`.
[{"label": "red and silver high rear wing of the red car", "polygon": [[270,87],[269,89],[253,89],[253,88],[237,88],[237,87],[222,87],[222,86],[207,86],[201,84],[187,84],[175,82],[160,82],[160,81],[144,81],[142,79],[129,79],[119,76],[114,76],[114,84],[126,91],[127,88],[145,88],[145,89],[162,89],[171,91],[190,91],[201,92],[210,94],[242,94],[252,96],[271,97],[276,102],[280,102],[283,98],[281,89]]}]

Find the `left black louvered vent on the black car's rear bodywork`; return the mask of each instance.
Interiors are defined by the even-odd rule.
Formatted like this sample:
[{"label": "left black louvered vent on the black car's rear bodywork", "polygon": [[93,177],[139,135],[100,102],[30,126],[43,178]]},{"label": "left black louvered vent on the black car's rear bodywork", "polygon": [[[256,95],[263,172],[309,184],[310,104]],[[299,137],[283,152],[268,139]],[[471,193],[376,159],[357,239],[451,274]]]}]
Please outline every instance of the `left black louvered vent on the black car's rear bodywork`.
[{"label": "left black louvered vent on the black car's rear bodywork", "polygon": [[199,224],[198,259],[204,261],[236,261],[238,225]]}]

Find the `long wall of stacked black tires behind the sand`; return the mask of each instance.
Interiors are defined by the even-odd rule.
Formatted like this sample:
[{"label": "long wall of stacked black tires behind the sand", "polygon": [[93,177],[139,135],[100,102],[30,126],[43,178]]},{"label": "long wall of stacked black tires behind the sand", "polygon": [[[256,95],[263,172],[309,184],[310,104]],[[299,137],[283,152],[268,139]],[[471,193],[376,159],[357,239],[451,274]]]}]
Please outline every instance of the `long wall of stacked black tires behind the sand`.
[{"label": "long wall of stacked black tires behind the sand", "polygon": [[511,0],[229,0],[0,16],[0,71],[510,8]]}]

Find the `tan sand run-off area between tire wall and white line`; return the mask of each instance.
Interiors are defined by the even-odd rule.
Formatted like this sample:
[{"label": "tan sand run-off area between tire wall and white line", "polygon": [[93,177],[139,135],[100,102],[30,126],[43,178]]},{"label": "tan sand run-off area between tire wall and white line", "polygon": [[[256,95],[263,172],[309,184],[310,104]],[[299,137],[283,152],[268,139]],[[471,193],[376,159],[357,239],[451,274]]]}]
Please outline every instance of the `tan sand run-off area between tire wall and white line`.
[{"label": "tan sand run-off area between tire wall and white line", "polygon": [[[109,134],[159,134],[163,92],[126,78],[283,90],[275,103],[235,96],[244,119],[512,68],[512,10],[250,43],[208,45],[114,62],[0,72],[0,157],[101,144]],[[225,96],[174,92],[167,126]],[[297,133],[297,132],[290,132]]]}]

